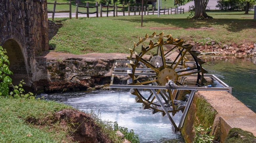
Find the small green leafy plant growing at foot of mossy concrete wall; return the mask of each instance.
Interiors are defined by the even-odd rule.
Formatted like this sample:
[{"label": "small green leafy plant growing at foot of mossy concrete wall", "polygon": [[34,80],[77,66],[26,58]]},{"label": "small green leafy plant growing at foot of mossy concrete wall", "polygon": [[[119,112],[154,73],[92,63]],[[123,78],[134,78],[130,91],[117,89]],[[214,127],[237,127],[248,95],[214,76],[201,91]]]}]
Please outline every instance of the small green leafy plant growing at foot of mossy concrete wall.
[{"label": "small green leafy plant growing at foot of mossy concrete wall", "polygon": [[204,129],[203,126],[200,124],[199,126],[194,126],[195,130],[195,139],[193,143],[212,143],[214,139],[214,135],[209,135],[211,132],[210,128]]}]

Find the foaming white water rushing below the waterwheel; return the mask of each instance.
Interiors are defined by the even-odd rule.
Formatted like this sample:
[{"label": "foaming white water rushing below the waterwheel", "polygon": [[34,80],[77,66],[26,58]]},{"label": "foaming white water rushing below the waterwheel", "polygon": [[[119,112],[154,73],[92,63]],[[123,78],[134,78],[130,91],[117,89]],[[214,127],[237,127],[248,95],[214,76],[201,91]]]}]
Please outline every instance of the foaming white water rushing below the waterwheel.
[{"label": "foaming white water rushing below the waterwheel", "polygon": [[[175,133],[167,116],[161,113],[152,115],[151,110],[142,108],[142,103],[135,102],[130,92],[94,91],[44,94],[46,99],[63,102],[90,112],[99,112],[101,119],[117,121],[118,126],[133,129],[139,135],[141,143],[184,142],[180,133]],[[178,125],[182,113],[173,119]]]}]

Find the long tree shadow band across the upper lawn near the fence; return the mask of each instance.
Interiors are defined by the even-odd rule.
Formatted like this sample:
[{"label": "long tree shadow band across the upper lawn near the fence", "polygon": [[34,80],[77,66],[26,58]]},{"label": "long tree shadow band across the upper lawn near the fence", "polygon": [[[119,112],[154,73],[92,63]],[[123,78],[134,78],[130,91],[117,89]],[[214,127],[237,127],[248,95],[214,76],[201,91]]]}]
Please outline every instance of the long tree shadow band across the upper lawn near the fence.
[{"label": "long tree shadow band across the upper lawn near the fence", "polygon": [[[112,20],[140,22],[140,18],[125,19],[118,18]],[[201,28],[201,27],[223,27],[230,32],[238,32],[244,29],[256,29],[256,22],[253,19],[212,19],[212,20],[190,20],[177,18],[143,18],[143,23],[155,23],[151,27],[158,27],[159,25],[170,25],[170,27],[178,28]]]}]

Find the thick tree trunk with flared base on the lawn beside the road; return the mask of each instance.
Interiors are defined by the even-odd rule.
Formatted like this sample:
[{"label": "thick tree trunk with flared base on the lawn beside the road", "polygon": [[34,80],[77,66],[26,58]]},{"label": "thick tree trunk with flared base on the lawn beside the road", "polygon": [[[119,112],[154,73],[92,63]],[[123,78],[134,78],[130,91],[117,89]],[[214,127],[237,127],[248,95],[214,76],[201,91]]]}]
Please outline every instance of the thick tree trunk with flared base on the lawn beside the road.
[{"label": "thick tree trunk with flared base on the lawn beside the road", "polygon": [[205,18],[210,18],[212,19],[211,16],[208,16],[205,12],[205,7],[204,7],[204,0],[195,0],[195,15],[192,17],[192,19],[205,19]]}]

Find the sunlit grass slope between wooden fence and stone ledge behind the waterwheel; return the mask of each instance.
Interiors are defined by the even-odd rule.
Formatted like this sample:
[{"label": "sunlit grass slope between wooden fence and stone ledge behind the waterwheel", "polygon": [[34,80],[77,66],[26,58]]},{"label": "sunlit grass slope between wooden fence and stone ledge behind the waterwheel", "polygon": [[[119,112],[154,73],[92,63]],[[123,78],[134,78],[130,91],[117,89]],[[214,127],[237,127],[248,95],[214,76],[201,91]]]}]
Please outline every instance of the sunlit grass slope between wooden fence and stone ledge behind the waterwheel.
[{"label": "sunlit grass slope between wooden fence and stone ledge behind the waterwheel", "polygon": [[[102,18],[55,18],[63,23],[57,35],[49,42],[55,52],[72,54],[129,53],[133,41],[146,33],[165,32],[185,41],[201,41],[205,38],[222,44],[256,42],[256,23],[252,14],[244,12],[207,11],[213,20],[189,20],[188,13],[179,15],[118,16]],[[253,11],[250,11],[253,13]],[[203,29],[207,27],[207,29]],[[209,30],[212,29],[212,30]]]}]

